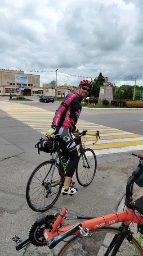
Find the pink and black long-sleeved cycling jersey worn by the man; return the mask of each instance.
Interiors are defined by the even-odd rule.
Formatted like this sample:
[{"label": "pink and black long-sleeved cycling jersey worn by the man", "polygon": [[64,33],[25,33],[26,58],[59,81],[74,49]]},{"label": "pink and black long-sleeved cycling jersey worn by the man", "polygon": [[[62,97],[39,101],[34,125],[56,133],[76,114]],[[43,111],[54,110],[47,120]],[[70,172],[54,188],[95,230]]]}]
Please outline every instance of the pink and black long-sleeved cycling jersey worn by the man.
[{"label": "pink and black long-sleeved cycling jersey worn by the man", "polygon": [[72,132],[75,131],[82,108],[81,101],[82,98],[78,93],[67,94],[55,112],[52,127],[69,128]]}]

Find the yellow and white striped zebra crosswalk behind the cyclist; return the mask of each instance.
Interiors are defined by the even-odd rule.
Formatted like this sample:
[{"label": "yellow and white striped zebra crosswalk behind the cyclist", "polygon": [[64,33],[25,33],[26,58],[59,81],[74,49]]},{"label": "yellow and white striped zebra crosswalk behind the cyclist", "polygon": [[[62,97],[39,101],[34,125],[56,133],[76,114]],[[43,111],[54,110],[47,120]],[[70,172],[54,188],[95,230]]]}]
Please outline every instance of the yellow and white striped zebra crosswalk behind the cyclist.
[{"label": "yellow and white striped zebra crosswalk behind the cyclist", "polygon": [[[45,134],[51,127],[54,117],[54,112],[52,111],[11,101],[1,101],[0,109],[4,110],[12,118],[18,119],[42,134]],[[87,136],[86,138],[86,147],[96,151],[96,155],[143,150],[142,135],[81,119],[78,120],[77,128],[79,131],[88,130],[93,134],[99,130],[101,140],[98,140],[95,145],[92,144],[95,140],[94,136]]]}]

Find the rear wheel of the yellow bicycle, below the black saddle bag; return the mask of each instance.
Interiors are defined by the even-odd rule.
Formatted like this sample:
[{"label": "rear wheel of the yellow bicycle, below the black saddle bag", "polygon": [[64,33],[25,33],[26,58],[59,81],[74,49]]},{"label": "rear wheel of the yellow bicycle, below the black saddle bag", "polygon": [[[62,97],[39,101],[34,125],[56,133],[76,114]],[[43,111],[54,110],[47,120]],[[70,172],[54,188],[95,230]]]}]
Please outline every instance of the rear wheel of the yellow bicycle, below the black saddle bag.
[{"label": "rear wheel of the yellow bicycle, below the black saddle bag", "polygon": [[[48,210],[60,195],[63,174],[58,164],[56,164],[53,173],[53,166],[50,161],[41,163],[34,169],[28,179],[26,199],[28,206],[34,211],[43,212]],[[51,177],[52,183],[50,184]]]}]

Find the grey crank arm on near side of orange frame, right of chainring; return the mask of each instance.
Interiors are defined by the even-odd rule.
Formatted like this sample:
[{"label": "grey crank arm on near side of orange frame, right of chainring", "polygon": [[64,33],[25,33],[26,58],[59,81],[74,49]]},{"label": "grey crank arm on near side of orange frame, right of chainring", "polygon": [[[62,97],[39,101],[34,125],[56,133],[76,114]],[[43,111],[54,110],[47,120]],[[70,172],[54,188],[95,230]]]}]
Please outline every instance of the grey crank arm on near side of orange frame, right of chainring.
[{"label": "grey crank arm on near side of orange frame, right of chainring", "polygon": [[69,237],[70,235],[72,235],[73,233],[78,231],[80,229],[80,227],[81,227],[81,223],[79,222],[74,227],[72,227],[71,229],[69,229],[65,233],[63,233],[62,235],[58,235],[55,238],[50,238],[48,243],[47,243],[49,249],[53,249],[63,239]]}]

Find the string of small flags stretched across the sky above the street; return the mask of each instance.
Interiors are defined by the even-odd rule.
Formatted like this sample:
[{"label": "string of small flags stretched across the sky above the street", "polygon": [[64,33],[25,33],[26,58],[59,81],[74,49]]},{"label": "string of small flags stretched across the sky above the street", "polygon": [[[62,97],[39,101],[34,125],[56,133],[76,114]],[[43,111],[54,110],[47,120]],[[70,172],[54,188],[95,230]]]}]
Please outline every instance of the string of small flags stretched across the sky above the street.
[{"label": "string of small flags stretched across the sky above the street", "polygon": [[[0,69],[0,70],[12,70],[12,69]],[[70,73],[64,73],[64,72],[59,72],[59,71],[31,71],[31,70],[12,70],[12,71],[24,71],[24,72],[30,72],[30,73],[61,73],[61,74],[65,74],[65,75],[69,75],[72,77],[78,77],[78,78],[91,78],[91,77],[85,77],[85,76],[79,76],[79,75],[73,75]],[[98,77],[92,77],[91,79],[97,79]],[[133,78],[109,78],[108,79],[112,79],[112,80],[131,80],[131,79],[136,79],[136,77]]]}]

